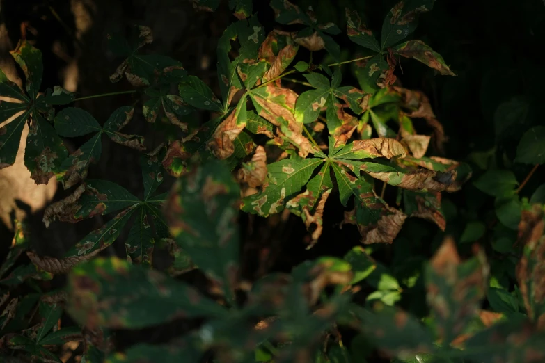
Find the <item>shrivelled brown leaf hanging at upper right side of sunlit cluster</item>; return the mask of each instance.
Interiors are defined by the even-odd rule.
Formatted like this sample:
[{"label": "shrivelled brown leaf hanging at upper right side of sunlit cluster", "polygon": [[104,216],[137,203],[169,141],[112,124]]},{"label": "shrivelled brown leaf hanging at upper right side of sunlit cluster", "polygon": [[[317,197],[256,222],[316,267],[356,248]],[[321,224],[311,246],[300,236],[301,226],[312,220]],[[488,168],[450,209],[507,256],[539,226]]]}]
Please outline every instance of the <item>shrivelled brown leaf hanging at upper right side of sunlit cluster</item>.
[{"label": "shrivelled brown leaf hanging at upper right side of sunlit cluster", "polygon": [[443,144],[445,143],[445,130],[443,125],[435,118],[432,105],[427,96],[420,91],[407,90],[402,87],[393,87],[402,96],[401,106],[408,108],[404,113],[410,118],[423,118],[429,127],[434,129],[434,145],[436,149],[443,153]]}]

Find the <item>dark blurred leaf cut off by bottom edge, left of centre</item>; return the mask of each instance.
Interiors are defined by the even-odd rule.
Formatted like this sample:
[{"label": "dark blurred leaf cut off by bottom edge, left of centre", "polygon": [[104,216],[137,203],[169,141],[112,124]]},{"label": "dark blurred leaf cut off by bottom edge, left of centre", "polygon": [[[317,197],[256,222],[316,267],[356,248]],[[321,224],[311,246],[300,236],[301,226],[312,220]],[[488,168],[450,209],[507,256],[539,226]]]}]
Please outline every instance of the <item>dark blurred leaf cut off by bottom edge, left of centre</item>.
[{"label": "dark blurred leaf cut off by bottom edge, left of centre", "polygon": [[136,344],[125,353],[113,353],[107,358],[109,363],[178,363],[180,358],[188,362],[198,362],[203,355],[187,341],[176,341],[176,345],[152,346]]}]

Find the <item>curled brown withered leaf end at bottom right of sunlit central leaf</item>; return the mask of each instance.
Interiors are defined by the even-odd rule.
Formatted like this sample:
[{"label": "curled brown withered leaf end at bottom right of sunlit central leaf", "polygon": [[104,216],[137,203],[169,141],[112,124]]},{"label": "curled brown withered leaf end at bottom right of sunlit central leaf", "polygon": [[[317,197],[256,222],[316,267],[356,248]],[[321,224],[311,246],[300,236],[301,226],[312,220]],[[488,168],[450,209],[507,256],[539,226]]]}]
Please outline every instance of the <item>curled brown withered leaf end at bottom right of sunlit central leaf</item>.
[{"label": "curled brown withered leaf end at bottom right of sunlit central leaf", "polygon": [[397,209],[390,209],[384,213],[376,225],[358,225],[361,242],[365,245],[372,243],[392,243],[407,218],[406,214]]}]

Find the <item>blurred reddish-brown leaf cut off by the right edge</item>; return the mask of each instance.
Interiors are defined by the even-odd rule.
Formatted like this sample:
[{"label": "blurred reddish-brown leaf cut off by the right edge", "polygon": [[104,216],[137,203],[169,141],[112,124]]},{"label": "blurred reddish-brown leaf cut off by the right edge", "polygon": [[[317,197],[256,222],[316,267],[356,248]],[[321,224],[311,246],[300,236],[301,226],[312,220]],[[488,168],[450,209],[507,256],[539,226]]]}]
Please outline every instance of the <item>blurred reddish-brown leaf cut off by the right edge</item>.
[{"label": "blurred reddish-brown leaf cut off by the right edge", "polygon": [[542,330],[545,327],[544,218],[543,206],[539,204],[522,211],[517,242],[523,245],[523,255],[516,266],[516,280],[528,318]]}]

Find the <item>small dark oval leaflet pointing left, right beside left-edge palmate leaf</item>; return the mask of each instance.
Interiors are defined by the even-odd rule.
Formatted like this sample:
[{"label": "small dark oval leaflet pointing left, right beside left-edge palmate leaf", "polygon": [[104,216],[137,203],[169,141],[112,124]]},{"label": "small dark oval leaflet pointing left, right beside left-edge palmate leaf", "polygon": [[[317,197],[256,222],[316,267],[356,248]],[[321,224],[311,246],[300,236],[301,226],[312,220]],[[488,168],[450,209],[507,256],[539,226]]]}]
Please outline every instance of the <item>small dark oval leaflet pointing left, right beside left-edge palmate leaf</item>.
[{"label": "small dark oval leaflet pointing left, right beside left-edge palmate leaf", "polygon": [[90,113],[74,107],[64,108],[57,113],[55,129],[59,135],[71,138],[102,131],[102,127]]}]

